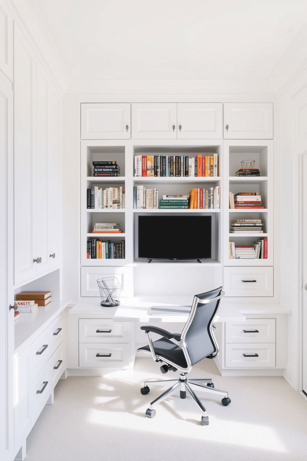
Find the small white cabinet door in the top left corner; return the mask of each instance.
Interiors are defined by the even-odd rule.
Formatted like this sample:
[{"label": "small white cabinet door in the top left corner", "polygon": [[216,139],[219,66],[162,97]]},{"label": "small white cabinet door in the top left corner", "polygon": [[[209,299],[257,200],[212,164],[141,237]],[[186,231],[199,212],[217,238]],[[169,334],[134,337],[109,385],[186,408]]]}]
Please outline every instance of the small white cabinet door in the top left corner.
[{"label": "small white cabinet door in the top left corner", "polygon": [[6,3],[0,0],[0,70],[13,81],[13,20]]}]

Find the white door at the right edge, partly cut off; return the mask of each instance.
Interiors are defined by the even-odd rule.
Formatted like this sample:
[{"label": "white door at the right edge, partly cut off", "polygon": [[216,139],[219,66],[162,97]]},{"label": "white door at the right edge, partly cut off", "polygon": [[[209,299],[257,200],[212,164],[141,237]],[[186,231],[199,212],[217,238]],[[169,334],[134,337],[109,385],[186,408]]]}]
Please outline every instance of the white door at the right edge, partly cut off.
[{"label": "white door at the right edge, partly cut off", "polygon": [[[303,155],[303,178],[307,177],[307,154]],[[307,395],[307,183],[303,181],[303,391]]]}]

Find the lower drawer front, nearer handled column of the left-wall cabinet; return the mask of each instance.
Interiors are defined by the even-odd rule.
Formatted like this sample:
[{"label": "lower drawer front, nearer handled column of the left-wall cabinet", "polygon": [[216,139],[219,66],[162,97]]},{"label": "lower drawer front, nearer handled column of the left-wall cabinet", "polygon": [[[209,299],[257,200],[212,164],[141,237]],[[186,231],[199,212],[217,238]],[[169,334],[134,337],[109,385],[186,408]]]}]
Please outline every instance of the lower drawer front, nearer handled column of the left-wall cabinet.
[{"label": "lower drawer front, nearer handled column of the left-wall cabinet", "polygon": [[49,363],[42,368],[30,386],[31,425],[35,423],[51,394]]}]

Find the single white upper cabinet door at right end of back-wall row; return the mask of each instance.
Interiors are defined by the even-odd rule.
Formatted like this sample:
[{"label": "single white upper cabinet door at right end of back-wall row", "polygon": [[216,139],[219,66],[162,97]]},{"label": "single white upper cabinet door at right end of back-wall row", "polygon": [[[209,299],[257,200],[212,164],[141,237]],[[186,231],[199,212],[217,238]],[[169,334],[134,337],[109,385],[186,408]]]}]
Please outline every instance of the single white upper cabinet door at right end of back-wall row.
[{"label": "single white upper cabinet door at right end of back-wall row", "polygon": [[224,103],[224,139],[273,139],[273,103]]}]

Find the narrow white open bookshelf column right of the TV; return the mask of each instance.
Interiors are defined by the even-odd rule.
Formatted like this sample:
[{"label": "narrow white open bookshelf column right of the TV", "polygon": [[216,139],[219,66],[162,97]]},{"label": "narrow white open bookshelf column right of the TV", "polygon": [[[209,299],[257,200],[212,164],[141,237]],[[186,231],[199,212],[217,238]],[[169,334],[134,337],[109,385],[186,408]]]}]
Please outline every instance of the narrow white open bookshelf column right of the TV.
[{"label": "narrow white open bookshelf column right of the TV", "polygon": [[[272,141],[234,141],[224,142],[224,171],[225,171],[225,191],[224,200],[227,204],[224,207],[224,264],[227,266],[263,266],[272,265],[273,261],[273,182],[272,182]],[[236,175],[243,166],[250,166],[250,162],[255,160],[252,167],[255,171],[259,170],[260,176],[254,176],[254,171],[246,172],[246,176]],[[243,162],[241,164],[241,162]],[[245,163],[247,161],[247,163]],[[251,173],[251,174],[250,174]],[[238,205],[235,203],[237,194],[253,193],[259,196],[259,203],[247,203]],[[228,193],[228,197],[226,194]],[[232,201],[232,200],[233,201]],[[242,200],[242,196],[241,196]],[[254,201],[256,202],[256,200]],[[235,230],[235,225],[245,223],[248,230]],[[251,224],[253,223],[255,231]],[[257,225],[255,224],[257,223]],[[261,226],[259,225],[261,223]],[[236,258],[233,255],[234,247],[237,247],[237,256],[242,255],[242,248],[256,248],[255,242],[263,239],[265,247],[264,256],[257,258],[250,251],[245,258]],[[230,243],[232,242],[232,244]]]}]

